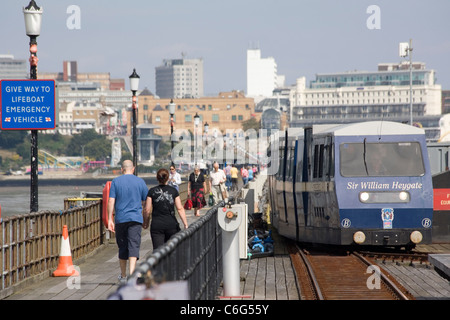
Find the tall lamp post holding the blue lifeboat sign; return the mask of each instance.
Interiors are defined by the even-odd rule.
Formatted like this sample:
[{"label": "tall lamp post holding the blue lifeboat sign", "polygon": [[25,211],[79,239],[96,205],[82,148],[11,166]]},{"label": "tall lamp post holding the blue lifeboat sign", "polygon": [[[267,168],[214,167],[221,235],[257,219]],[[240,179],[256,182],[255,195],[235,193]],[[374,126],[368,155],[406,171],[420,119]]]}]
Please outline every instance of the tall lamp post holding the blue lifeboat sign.
[{"label": "tall lamp post holding the blue lifeboat sign", "polygon": [[[23,8],[25,19],[25,31],[30,37],[30,79],[37,79],[37,37],[41,34],[42,8],[39,8],[31,0],[27,7]],[[39,211],[38,196],[38,132],[31,130],[31,186],[30,186],[30,212]]]}]

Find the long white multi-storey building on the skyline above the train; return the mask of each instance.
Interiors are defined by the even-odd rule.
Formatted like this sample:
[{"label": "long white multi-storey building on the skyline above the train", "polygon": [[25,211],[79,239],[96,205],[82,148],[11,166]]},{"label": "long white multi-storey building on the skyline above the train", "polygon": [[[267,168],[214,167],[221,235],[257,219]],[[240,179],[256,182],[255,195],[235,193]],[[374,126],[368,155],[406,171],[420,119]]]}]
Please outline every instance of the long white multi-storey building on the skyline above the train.
[{"label": "long white multi-storey building on the skyline above the train", "polygon": [[[438,127],[442,109],[441,85],[435,71],[413,63],[413,122]],[[409,64],[379,64],[378,71],[318,74],[306,86],[297,79],[290,93],[290,124],[345,123],[367,120],[409,122]]]}]

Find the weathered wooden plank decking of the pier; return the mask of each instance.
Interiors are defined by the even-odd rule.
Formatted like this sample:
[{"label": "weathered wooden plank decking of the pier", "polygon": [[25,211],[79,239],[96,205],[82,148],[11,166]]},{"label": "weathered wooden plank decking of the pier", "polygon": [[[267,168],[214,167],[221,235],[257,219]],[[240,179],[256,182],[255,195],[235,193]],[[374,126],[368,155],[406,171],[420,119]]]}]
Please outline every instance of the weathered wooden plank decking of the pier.
[{"label": "weathered wooden plank decking of the pier", "polygon": [[[202,212],[208,209],[202,209]],[[197,219],[192,210],[186,213],[189,223]],[[241,260],[241,291],[245,300],[299,299],[284,240],[276,234],[274,239],[274,256]],[[152,250],[150,232],[143,230],[141,259]],[[16,292],[5,300],[106,300],[119,288],[117,277],[120,268],[117,252],[115,241],[110,239],[107,245],[80,261],[73,262],[74,266],[79,268],[78,280],[77,277],[52,277],[49,272],[49,276],[17,288]]]}]

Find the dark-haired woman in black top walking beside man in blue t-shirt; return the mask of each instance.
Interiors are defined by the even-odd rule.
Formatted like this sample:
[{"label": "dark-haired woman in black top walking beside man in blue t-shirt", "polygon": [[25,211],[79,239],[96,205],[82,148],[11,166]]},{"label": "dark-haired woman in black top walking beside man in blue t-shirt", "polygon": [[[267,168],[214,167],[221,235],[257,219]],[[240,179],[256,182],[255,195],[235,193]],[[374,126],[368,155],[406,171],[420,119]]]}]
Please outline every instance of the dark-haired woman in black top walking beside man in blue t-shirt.
[{"label": "dark-haired woman in black top walking beside man in blue t-shirt", "polygon": [[159,169],[156,179],[159,185],[148,191],[143,223],[143,228],[147,229],[151,216],[150,234],[153,250],[163,245],[172,235],[180,230],[178,220],[175,217],[175,206],[183,221],[184,228],[187,229],[188,227],[180,195],[175,188],[167,185],[169,171],[167,169]]}]

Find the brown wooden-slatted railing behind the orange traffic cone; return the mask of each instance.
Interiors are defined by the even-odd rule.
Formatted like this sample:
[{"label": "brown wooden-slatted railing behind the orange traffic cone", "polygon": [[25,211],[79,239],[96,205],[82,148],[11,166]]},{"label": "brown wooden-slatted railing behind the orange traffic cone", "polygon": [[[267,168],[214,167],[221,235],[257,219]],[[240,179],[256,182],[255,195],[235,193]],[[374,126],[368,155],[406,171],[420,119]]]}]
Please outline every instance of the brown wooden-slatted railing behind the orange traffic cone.
[{"label": "brown wooden-slatted railing behind the orange traffic cone", "polygon": [[72,257],[78,259],[99,247],[106,230],[102,201],[83,206],[65,199],[64,210],[7,217],[0,223],[0,296],[19,282],[58,266],[63,225],[67,225]]}]

